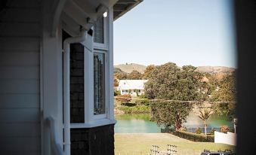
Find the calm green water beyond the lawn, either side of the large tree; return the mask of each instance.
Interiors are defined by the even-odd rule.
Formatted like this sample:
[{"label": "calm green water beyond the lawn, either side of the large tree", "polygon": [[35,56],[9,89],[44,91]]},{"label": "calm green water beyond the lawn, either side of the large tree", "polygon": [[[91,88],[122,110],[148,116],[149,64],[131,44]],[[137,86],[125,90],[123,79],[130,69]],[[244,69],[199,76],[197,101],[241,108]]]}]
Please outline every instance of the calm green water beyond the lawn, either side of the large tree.
[{"label": "calm green water beyond the lawn, either side of the large tree", "polygon": [[[116,133],[159,133],[161,128],[155,122],[150,121],[150,114],[123,114],[116,116]],[[220,128],[226,125],[233,128],[232,121],[227,117],[211,115],[207,121],[208,128]],[[184,123],[187,128],[203,128],[203,121],[199,119],[198,114],[191,112],[187,117],[187,123]]]}]

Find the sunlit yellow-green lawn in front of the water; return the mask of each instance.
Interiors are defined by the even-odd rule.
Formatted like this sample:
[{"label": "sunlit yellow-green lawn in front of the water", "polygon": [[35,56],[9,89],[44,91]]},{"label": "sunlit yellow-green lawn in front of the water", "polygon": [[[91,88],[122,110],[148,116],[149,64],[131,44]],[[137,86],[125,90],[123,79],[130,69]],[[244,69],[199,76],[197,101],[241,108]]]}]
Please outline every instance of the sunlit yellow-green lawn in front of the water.
[{"label": "sunlit yellow-green lawn in front of the water", "polygon": [[[168,133],[117,133],[115,134],[116,155],[147,155],[152,145],[166,151],[167,144],[177,146],[177,153],[182,155],[200,155],[202,150],[225,150],[235,148],[228,144],[193,142]],[[161,153],[159,153],[161,154]],[[166,153],[162,153],[166,154]]]}]

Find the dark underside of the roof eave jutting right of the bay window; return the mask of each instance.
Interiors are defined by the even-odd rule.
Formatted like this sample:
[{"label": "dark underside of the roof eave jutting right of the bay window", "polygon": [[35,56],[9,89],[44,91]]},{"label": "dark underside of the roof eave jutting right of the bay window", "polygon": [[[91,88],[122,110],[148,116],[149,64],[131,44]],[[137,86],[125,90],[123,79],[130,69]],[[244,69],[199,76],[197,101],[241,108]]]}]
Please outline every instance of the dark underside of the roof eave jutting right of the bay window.
[{"label": "dark underside of the roof eave jutting right of the bay window", "polygon": [[118,2],[116,2],[116,4],[113,6],[114,20],[122,17],[122,15],[140,4],[140,2],[143,2],[143,0],[119,0]]}]

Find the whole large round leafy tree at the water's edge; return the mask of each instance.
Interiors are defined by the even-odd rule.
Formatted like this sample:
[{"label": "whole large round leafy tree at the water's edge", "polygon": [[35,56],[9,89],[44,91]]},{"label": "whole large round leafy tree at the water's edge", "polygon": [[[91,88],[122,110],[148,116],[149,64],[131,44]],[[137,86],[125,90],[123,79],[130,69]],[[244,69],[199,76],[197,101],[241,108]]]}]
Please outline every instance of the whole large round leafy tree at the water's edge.
[{"label": "whole large round leafy tree at the water's edge", "polygon": [[150,99],[162,99],[151,104],[153,120],[159,125],[180,129],[193,109],[193,104],[186,101],[204,100],[207,96],[202,92],[205,90],[203,74],[192,65],[179,68],[171,62],[156,66],[152,74],[146,83],[145,95]]}]

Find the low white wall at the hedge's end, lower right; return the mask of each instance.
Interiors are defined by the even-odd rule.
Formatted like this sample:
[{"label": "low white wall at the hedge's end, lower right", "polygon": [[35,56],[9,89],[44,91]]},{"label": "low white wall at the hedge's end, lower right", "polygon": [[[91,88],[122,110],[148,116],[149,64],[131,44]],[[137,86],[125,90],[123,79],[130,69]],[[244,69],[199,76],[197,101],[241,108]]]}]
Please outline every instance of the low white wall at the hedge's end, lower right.
[{"label": "low white wall at the hedge's end, lower right", "polygon": [[214,143],[223,143],[223,144],[230,144],[236,145],[236,133],[227,132],[214,132]]}]

